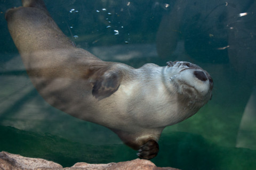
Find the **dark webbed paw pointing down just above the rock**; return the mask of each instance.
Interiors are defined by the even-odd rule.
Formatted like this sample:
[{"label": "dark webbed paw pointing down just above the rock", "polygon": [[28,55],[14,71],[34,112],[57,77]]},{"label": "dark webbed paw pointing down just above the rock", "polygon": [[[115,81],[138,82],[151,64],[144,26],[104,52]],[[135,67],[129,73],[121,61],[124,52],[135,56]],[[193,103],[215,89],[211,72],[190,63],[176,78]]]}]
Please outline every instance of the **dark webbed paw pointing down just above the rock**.
[{"label": "dark webbed paw pointing down just above the rock", "polygon": [[159,147],[158,143],[151,139],[145,143],[145,145],[142,145],[139,152],[137,153],[138,157],[141,159],[152,159],[155,156],[157,156]]}]

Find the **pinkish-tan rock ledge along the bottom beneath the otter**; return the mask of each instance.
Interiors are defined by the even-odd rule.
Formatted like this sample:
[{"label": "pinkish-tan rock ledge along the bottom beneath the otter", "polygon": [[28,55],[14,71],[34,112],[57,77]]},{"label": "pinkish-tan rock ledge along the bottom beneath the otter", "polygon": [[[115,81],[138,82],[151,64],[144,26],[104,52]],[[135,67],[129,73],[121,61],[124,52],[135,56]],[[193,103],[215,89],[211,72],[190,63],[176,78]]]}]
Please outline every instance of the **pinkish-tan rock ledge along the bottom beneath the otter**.
[{"label": "pinkish-tan rock ledge along the bottom beneath the otter", "polygon": [[8,152],[0,152],[0,169],[5,170],[16,170],[16,169],[51,169],[51,170],[179,170],[171,167],[157,167],[154,163],[145,159],[134,159],[126,162],[109,163],[109,164],[87,164],[87,163],[76,163],[72,167],[63,168],[60,164],[41,159],[41,158],[28,158],[20,155],[10,154]]}]

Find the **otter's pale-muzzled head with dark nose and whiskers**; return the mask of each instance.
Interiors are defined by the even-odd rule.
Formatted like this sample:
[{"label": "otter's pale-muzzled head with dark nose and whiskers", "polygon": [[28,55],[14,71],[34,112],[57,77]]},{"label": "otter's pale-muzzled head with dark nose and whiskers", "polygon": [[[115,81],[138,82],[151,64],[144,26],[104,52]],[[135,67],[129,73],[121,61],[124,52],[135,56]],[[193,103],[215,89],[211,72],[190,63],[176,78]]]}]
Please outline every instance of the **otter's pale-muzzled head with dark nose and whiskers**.
[{"label": "otter's pale-muzzled head with dark nose and whiskers", "polygon": [[164,73],[166,85],[171,92],[178,92],[182,98],[191,98],[201,105],[211,99],[212,78],[198,65],[179,61],[167,62]]}]

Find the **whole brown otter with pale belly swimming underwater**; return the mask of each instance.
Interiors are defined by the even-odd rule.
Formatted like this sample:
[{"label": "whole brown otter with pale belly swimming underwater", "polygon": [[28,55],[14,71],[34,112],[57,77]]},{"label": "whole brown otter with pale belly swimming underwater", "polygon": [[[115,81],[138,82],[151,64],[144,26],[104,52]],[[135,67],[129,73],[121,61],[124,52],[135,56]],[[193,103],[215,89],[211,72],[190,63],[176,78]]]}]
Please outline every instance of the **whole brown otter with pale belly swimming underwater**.
[{"label": "whole brown otter with pale belly swimming underwater", "polygon": [[106,126],[142,159],[157,155],[166,126],[194,115],[211,99],[212,78],[195,64],[134,69],[75,47],[42,0],[22,0],[5,19],[30,80],[47,103]]}]

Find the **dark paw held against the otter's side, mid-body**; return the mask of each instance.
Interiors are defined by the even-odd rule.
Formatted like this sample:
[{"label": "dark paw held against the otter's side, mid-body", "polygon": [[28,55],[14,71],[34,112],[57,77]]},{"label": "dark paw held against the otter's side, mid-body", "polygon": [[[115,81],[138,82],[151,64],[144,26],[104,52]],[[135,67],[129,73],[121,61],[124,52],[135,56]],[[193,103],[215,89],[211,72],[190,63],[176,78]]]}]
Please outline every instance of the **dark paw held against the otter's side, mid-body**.
[{"label": "dark paw held against the otter's side, mid-body", "polygon": [[93,83],[92,95],[102,99],[118,90],[123,75],[120,71],[106,71]]}]

